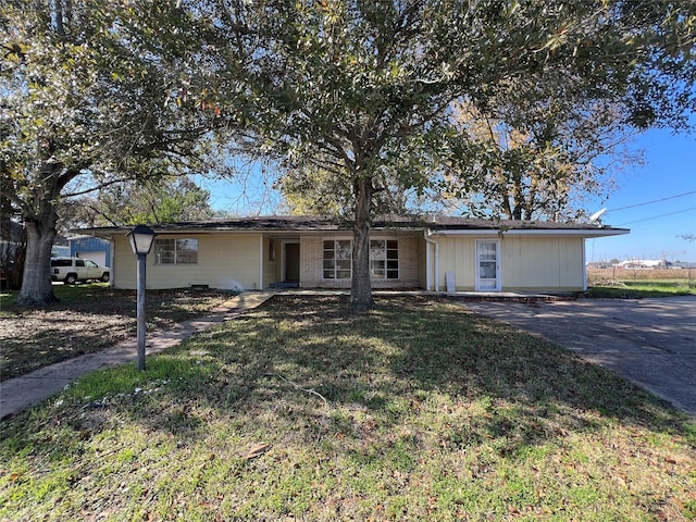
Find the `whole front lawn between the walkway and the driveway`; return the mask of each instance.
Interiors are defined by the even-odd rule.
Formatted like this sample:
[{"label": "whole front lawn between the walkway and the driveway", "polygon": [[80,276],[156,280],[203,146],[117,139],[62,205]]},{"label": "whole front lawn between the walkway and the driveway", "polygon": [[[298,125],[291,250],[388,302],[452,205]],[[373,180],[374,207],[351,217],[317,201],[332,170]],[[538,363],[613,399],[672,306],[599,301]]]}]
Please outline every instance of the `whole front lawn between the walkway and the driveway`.
[{"label": "whole front lawn between the walkway and the driveway", "polygon": [[696,422],[448,301],[276,296],[0,427],[2,520],[693,520]]}]

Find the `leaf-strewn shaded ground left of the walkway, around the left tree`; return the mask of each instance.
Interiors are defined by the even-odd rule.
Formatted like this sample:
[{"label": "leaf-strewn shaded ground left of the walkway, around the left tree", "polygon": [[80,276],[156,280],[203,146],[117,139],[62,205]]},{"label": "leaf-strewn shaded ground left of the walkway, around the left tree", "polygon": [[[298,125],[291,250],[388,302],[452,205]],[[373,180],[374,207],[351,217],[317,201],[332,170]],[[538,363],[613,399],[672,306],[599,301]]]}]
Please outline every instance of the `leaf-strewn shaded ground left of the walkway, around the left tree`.
[{"label": "leaf-strewn shaded ground left of the walkway, around the left tree", "polygon": [[[135,335],[136,294],[108,284],[55,285],[59,302],[14,307],[16,293],[0,295],[0,381],[91,353]],[[148,290],[148,330],[207,313],[228,300],[217,290]]]}]

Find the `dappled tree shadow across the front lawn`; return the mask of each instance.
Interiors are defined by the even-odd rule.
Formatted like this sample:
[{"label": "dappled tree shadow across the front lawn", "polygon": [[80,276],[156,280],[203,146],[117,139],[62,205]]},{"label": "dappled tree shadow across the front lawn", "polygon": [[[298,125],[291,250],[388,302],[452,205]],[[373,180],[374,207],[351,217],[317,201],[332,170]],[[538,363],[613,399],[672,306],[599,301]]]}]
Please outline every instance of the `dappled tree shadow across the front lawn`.
[{"label": "dappled tree shadow across the front lawn", "polygon": [[360,465],[387,456],[403,470],[413,456],[484,445],[521,458],[617,423],[694,444],[693,422],[660,399],[445,299],[385,298],[360,315],[345,298],[276,296],[150,357],[145,373],[96,372],[60,398],[1,427],[3,451],[79,455],[125,419],[177,447],[275,437]]}]

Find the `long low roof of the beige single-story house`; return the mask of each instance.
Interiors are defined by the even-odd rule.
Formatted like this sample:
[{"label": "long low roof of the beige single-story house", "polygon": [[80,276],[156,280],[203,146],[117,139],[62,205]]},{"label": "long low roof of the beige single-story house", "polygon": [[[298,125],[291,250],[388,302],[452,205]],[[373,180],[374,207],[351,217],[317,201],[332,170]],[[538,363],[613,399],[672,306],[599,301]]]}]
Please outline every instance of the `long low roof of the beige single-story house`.
[{"label": "long low roof of the beige single-story house", "polygon": [[[321,233],[350,231],[352,222],[333,216],[321,215],[266,215],[234,217],[215,221],[195,221],[150,225],[158,234],[210,234],[210,233]],[[108,226],[72,231],[97,237],[108,238],[127,234],[132,226]],[[373,220],[373,231],[423,232],[431,235],[582,235],[585,237],[613,236],[629,234],[627,228],[613,228],[593,223],[556,223],[549,221],[480,220],[457,216],[380,216]]]}]

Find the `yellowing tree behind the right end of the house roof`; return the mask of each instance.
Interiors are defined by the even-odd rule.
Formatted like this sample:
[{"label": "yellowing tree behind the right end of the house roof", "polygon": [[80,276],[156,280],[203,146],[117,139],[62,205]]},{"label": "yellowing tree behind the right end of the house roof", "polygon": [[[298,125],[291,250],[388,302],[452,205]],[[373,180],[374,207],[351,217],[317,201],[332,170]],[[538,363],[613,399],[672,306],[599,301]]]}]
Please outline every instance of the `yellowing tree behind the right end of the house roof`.
[{"label": "yellowing tree behind the right end of the house roof", "polygon": [[620,166],[641,161],[624,147],[631,130],[621,115],[594,100],[545,100],[523,109],[496,102],[492,114],[455,105],[455,139],[469,153],[445,165],[436,183],[436,201],[450,212],[576,221],[584,197],[608,194]]}]

